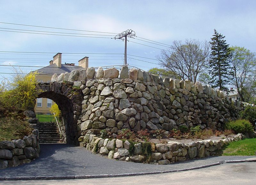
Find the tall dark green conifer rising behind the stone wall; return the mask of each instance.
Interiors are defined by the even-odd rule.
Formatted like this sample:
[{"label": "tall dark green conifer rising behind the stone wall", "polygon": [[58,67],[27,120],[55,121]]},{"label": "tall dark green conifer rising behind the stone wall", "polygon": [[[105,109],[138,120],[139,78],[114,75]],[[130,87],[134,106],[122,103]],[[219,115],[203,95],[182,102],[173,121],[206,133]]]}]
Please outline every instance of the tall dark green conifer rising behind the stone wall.
[{"label": "tall dark green conifer rising behind the stone wall", "polygon": [[210,84],[212,88],[218,88],[227,94],[230,90],[226,87],[230,79],[230,70],[231,67],[229,65],[230,58],[230,48],[229,44],[224,40],[225,36],[219,34],[214,29],[214,34],[211,38],[211,60],[209,62],[210,67],[210,76],[211,81]]}]

